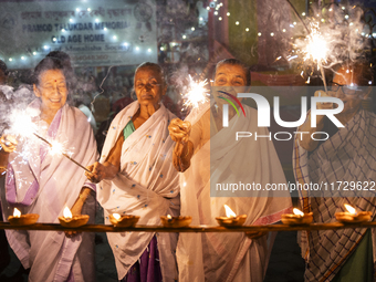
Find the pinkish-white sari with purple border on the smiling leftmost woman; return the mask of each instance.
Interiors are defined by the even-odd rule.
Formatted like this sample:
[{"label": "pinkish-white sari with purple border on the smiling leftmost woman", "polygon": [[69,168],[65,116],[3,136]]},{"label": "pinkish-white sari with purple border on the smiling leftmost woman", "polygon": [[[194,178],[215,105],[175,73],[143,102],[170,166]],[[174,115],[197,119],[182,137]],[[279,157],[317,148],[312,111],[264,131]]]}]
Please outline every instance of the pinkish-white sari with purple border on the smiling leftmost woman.
[{"label": "pinkish-white sari with purple border on the smiling leftmost woman", "polygon": [[[35,100],[29,108],[39,108],[40,103]],[[30,137],[28,145],[21,142],[10,154],[6,194],[1,196],[4,218],[18,207],[22,213],[38,213],[39,222],[59,222],[58,217],[63,216],[65,206],[73,206],[86,181],[84,170],[65,157],[52,156],[48,145]],[[84,166],[96,159],[93,130],[77,108],[64,105],[44,137],[61,143]],[[22,155],[25,149],[29,154]],[[64,232],[7,230],[7,237],[23,267],[31,267],[31,280],[52,281],[55,278],[63,281],[74,262],[75,276],[82,276],[80,262],[75,259],[82,234],[66,239]]]}]

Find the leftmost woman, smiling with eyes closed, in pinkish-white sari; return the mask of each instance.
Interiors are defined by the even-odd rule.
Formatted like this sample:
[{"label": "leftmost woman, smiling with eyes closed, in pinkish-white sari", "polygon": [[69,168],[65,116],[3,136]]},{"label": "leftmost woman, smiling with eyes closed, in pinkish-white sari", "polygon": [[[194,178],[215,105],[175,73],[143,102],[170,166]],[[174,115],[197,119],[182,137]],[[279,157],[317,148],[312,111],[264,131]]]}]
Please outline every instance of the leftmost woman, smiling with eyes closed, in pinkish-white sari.
[{"label": "leftmost woman, smiling with eyes closed, in pinkish-white sari", "polygon": [[[81,164],[95,160],[93,130],[80,109],[66,104],[69,82],[58,59],[46,58],[34,70],[34,100],[27,108],[35,133],[62,144]],[[50,154],[49,145],[30,134],[25,138],[3,135],[1,166],[7,175],[1,187],[4,218],[18,208],[38,213],[39,222],[59,222],[67,206],[73,215],[95,218],[95,185],[84,171],[61,156]],[[30,281],[93,281],[95,278],[94,233],[7,230],[10,247]]]}]

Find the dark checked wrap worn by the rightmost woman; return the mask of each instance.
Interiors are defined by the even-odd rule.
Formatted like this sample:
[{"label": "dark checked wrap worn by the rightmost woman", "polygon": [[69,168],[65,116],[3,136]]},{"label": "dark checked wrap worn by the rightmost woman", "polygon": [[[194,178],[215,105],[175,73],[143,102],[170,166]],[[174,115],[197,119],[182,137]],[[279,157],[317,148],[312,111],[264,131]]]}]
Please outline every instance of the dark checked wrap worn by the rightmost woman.
[{"label": "dark checked wrap worn by the rightmost woman", "polygon": [[[309,154],[295,138],[293,169],[299,184],[327,184],[328,189],[300,191],[304,212],[313,211],[314,222],[335,222],[335,212],[345,211],[344,203],[357,210],[376,213],[376,200],[368,192],[337,189],[337,181],[368,182],[376,179],[376,116],[361,109],[344,128]],[[334,190],[332,190],[334,184]],[[364,195],[364,194],[363,194]],[[307,261],[306,281],[331,281],[357,248],[366,229],[342,229],[302,232],[300,244]],[[374,262],[375,232],[372,230]]]}]

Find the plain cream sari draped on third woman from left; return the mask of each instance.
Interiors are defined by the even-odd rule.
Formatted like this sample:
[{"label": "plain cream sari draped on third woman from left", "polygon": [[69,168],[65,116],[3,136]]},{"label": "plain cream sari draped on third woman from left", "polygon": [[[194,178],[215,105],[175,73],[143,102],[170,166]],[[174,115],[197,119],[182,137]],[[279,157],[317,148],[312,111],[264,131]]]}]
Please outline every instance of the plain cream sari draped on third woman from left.
[{"label": "plain cream sari draped on third woman from left", "polygon": [[[207,104],[194,109],[186,121],[194,127],[209,108]],[[282,213],[291,210],[289,191],[282,192],[284,197],[280,194],[275,198],[273,191],[251,191],[250,197],[210,197],[210,182],[254,181],[262,187],[267,184],[285,184],[282,167],[269,138],[234,140],[236,132],[268,135],[268,129],[257,127],[257,111],[248,106],[244,109],[247,118],[236,116],[228,129],[211,136],[210,142],[194,155],[190,167],[180,177],[181,215],[191,216],[195,226],[217,226],[215,218],[226,216],[224,203],[237,215],[247,215],[246,224],[273,223],[281,219]],[[177,249],[179,278],[180,281],[233,281],[238,272],[247,268],[248,275],[251,273],[248,279],[262,281],[269,251],[265,237],[254,241],[246,237],[244,232],[180,233]],[[250,265],[241,267],[248,252],[252,261]]]}]

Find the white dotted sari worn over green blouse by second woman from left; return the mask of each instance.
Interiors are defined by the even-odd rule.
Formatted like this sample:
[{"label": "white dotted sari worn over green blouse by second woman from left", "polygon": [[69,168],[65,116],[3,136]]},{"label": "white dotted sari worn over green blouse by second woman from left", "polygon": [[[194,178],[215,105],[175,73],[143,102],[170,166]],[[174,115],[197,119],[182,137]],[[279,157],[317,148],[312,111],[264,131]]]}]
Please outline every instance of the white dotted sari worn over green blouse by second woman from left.
[{"label": "white dotted sari worn over green blouse by second woman from left", "polygon": [[[103,147],[102,163],[106,160],[109,150],[138,108],[139,103],[135,101],[114,118]],[[175,116],[160,104],[159,109],[125,139],[121,171],[113,180],[103,180],[98,189],[98,201],[104,208],[107,223],[108,213],[114,212],[139,216],[139,224],[160,224],[160,216],[179,213],[178,173],[173,166],[174,142],[168,133],[173,118]],[[154,234],[107,233],[118,279],[123,279],[139,259]],[[177,278],[176,241],[176,234],[157,234],[164,281],[174,281]]]}]

